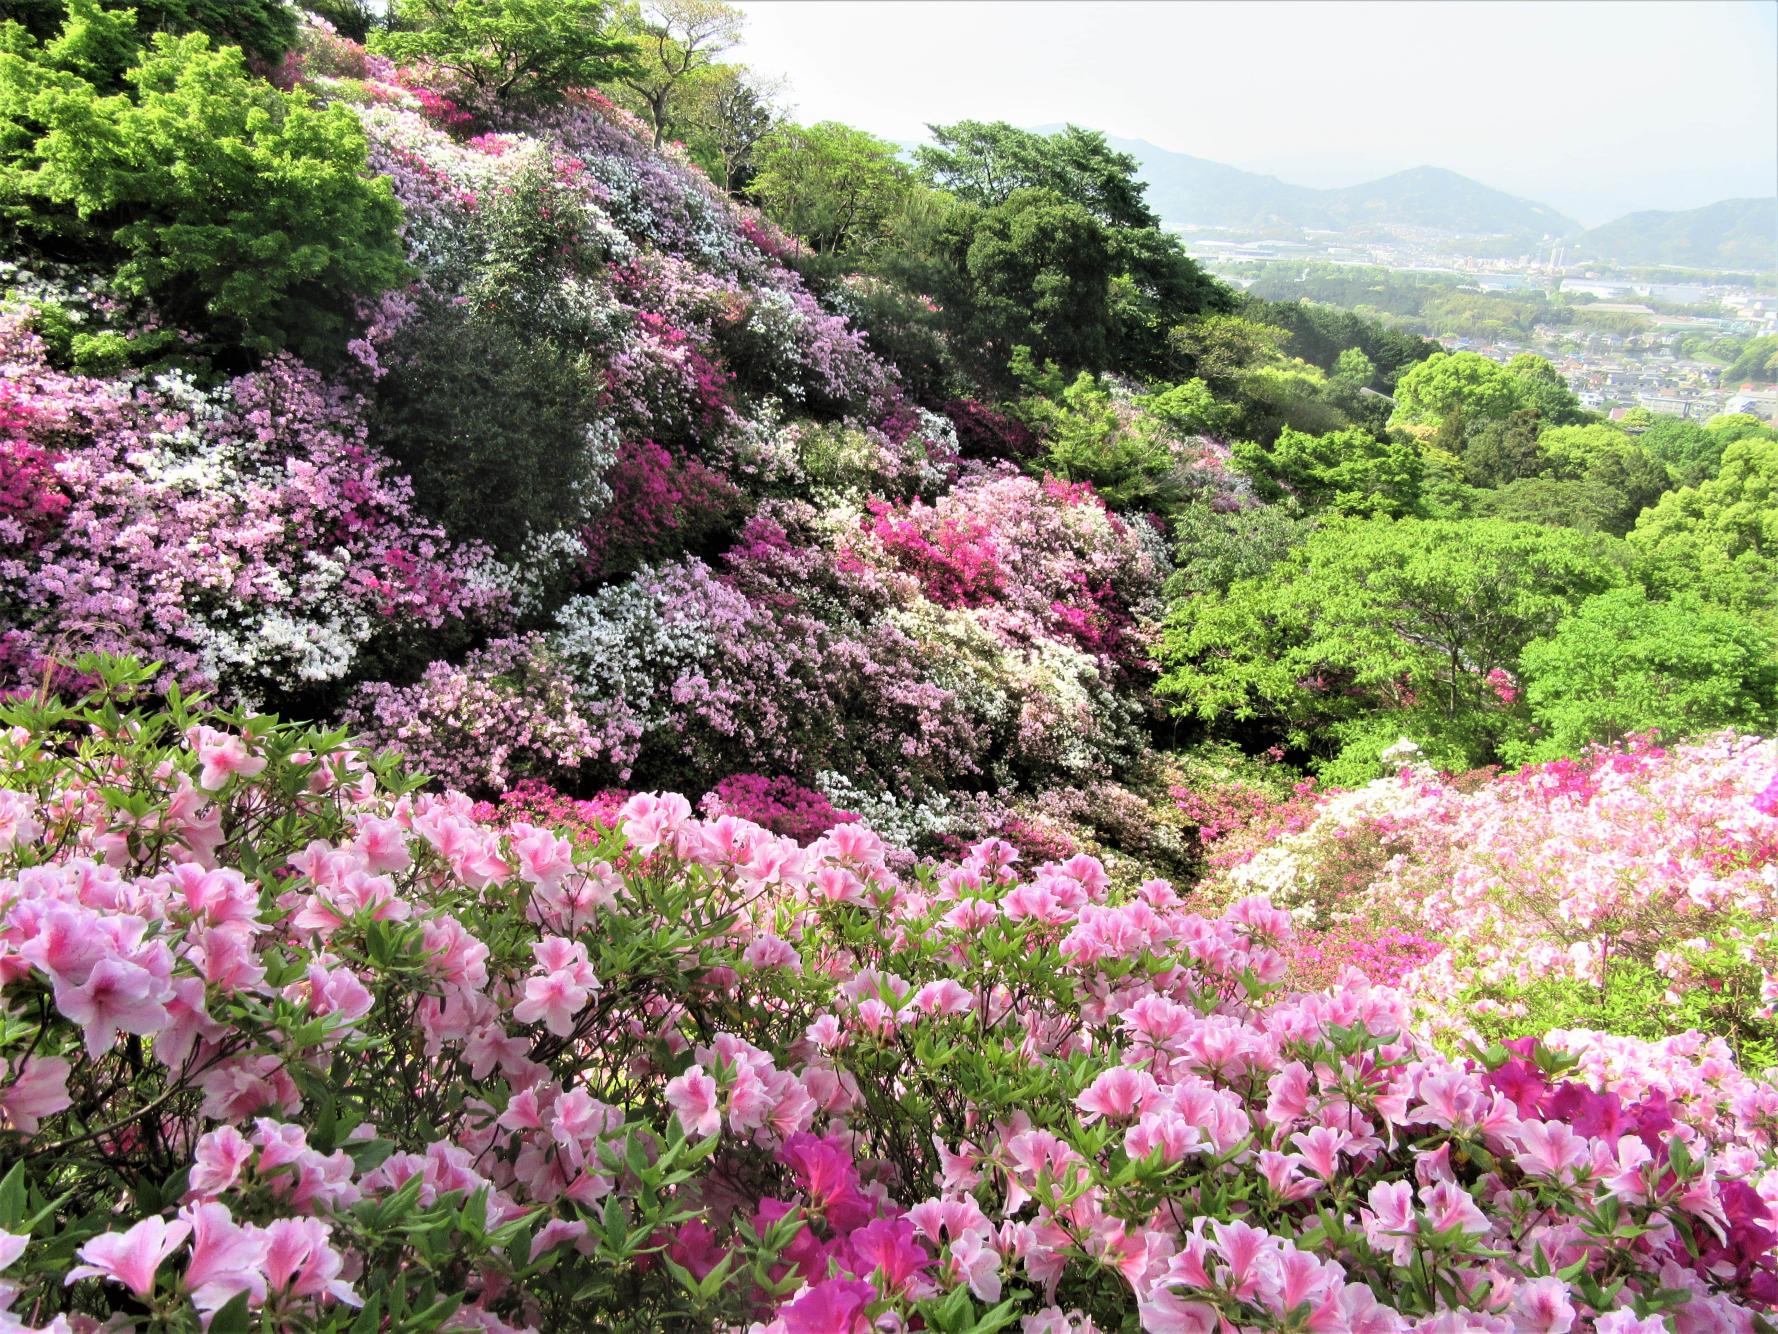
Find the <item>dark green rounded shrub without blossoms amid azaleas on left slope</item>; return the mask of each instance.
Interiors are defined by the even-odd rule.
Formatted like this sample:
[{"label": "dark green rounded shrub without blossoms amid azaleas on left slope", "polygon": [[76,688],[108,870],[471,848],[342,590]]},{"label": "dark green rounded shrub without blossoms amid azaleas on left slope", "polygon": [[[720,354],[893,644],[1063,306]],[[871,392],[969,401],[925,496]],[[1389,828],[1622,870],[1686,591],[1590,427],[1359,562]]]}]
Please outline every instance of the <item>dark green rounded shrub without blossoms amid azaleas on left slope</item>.
[{"label": "dark green rounded shrub without blossoms amid azaleas on left slope", "polygon": [[583,354],[441,304],[382,361],[372,438],[453,535],[514,555],[585,518],[571,478],[587,475],[597,377]]}]

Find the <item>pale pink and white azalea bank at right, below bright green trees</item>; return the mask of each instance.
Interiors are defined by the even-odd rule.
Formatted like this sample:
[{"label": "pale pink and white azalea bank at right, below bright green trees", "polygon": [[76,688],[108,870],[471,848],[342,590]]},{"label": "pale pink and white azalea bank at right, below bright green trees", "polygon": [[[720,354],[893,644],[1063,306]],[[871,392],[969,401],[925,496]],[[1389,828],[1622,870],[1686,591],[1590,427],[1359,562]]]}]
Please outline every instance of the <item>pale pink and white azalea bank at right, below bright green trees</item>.
[{"label": "pale pink and white azalea bank at right, below bright green trees", "polygon": [[[1309,928],[1303,976],[1351,962],[1399,978],[1449,1032],[1696,1028],[1766,1067],[1778,1062],[1773,783],[1778,745],[1732,733],[1508,774],[1405,763],[1243,813],[1211,843],[1200,889],[1269,895]],[[1200,792],[1181,800],[1223,818]]]}]

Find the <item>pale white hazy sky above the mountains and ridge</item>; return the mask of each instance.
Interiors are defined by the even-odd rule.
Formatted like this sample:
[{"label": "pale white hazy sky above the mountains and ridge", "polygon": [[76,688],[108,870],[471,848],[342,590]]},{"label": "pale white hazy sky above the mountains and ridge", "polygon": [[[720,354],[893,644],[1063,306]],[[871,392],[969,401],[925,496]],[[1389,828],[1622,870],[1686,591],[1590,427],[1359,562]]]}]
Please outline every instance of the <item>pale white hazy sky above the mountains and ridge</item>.
[{"label": "pale white hazy sky above the mountains and ridge", "polygon": [[743,0],[802,121],[1074,121],[1301,185],[1435,165],[1586,224],[1778,192],[1778,0]]}]

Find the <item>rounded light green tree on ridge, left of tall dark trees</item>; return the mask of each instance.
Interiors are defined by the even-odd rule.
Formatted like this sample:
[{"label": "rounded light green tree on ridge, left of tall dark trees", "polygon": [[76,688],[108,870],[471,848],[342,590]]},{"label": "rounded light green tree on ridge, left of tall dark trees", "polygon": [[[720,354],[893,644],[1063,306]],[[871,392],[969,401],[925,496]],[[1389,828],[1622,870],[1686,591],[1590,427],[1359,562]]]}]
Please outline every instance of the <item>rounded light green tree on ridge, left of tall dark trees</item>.
[{"label": "rounded light green tree on ridge, left of tall dark trees", "polygon": [[912,190],[894,144],[839,121],[779,126],[749,187],[773,222],[823,254],[878,240]]}]

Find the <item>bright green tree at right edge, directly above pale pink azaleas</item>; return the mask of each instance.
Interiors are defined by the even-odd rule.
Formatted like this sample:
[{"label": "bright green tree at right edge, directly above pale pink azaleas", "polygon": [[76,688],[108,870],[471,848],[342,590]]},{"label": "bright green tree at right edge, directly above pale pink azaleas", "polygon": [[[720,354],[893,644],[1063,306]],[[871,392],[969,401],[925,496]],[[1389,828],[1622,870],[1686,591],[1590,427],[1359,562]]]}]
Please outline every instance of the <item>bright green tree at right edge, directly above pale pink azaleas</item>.
[{"label": "bright green tree at right edge, directly above pale pink azaleas", "polygon": [[1778,639],[1694,594],[1652,601],[1632,583],[1588,598],[1520,663],[1534,759],[1630,733],[1678,740],[1778,720]]}]

